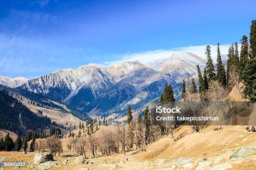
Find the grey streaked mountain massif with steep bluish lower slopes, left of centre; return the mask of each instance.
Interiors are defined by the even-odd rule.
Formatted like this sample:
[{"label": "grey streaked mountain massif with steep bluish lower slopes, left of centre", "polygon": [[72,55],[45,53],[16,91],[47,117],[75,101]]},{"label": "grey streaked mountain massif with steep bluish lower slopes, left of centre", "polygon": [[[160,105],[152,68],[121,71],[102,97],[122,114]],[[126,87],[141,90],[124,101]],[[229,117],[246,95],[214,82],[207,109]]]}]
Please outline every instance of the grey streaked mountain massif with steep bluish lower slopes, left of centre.
[{"label": "grey streaked mountain massif with steep bluish lower slopes, left of centre", "polygon": [[115,85],[115,79],[100,67],[82,65],[29,80],[21,87],[54,100],[84,107]]}]

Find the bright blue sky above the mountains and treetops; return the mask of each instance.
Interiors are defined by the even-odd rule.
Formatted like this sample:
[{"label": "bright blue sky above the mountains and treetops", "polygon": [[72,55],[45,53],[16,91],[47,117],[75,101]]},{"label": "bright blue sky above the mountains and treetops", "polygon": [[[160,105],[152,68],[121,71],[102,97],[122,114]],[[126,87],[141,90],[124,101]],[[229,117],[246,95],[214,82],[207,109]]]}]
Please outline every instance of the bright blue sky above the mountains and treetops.
[{"label": "bright blue sky above the mountains and treetops", "polygon": [[168,57],[159,50],[202,47],[203,54],[217,42],[225,54],[228,44],[248,36],[255,6],[255,0],[1,0],[0,75],[31,78],[90,62]]}]

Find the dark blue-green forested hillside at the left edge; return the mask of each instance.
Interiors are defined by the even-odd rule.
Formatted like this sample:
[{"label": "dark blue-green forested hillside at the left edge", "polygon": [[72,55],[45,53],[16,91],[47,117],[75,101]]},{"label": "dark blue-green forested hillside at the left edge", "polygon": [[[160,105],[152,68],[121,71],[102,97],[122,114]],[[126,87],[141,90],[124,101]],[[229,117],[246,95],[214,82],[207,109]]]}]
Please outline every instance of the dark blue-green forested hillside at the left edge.
[{"label": "dark blue-green forested hillside at the left edge", "polygon": [[20,135],[25,129],[46,128],[50,123],[49,118],[35,115],[7,91],[0,90],[0,128]]}]

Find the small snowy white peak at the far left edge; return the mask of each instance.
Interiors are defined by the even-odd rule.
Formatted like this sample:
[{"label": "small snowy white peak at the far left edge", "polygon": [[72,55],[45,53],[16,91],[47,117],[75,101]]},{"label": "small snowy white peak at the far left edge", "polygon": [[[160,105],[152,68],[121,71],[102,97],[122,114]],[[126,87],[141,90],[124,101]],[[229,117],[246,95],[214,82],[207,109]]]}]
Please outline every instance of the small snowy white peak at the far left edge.
[{"label": "small snowy white peak at the far left edge", "polygon": [[7,87],[18,87],[24,83],[26,83],[29,79],[26,77],[7,77],[0,75],[0,85],[5,85]]}]

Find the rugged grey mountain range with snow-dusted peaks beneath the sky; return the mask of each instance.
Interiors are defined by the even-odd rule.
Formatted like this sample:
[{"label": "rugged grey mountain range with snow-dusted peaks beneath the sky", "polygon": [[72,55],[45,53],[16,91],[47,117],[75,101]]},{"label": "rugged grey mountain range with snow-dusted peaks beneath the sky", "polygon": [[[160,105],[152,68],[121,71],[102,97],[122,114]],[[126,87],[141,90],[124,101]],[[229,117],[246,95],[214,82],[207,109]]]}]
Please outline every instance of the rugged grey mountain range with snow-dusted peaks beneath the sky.
[{"label": "rugged grey mountain range with snow-dusted peaks beneath the sky", "polygon": [[[226,57],[222,57],[225,63]],[[90,63],[31,80],[0,76],[0,84],[46,95],[90,116],[109,115],[124,111],[128,104],[140,109],[158,100],[165,83],[172,85],[178,100],[182,80],[197,74],[196,65],[203,70],[206,60],[191,52],[180,52],[146,64],[138,60],[113,66]]]}]

